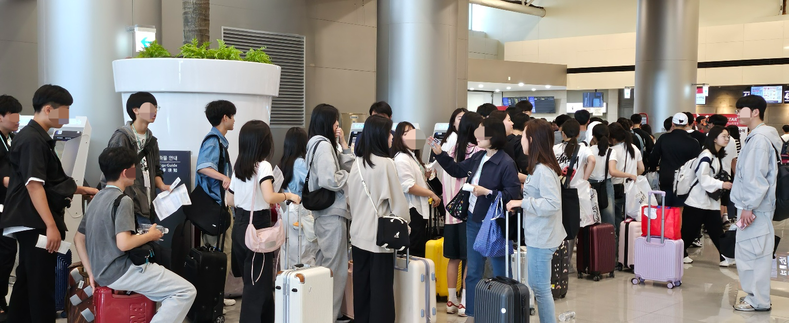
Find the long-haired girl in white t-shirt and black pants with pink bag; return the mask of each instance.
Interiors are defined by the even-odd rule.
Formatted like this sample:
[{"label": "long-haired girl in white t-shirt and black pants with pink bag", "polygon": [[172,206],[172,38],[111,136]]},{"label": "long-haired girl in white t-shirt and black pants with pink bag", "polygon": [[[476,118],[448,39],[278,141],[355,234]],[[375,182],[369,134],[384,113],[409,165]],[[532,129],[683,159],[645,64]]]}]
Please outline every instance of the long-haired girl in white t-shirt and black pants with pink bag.
[{"label": "long-haired girl in white t-shirt and black pants with pink bag", "polygon": [[256,229],[271,227],[268,205],[287,200],[301,203],[297,194],[274,191],[274,173],[271,163],[266,161],[273,145],[271,129],[266,122],[252,120],[241,127],[238,157],[226,194],[227,205],[236,208],[231,265],[233,276],[244,278],[241,321],[274,322],[273,253],[256,254],[247,248],[245,236],[250,216]]}]

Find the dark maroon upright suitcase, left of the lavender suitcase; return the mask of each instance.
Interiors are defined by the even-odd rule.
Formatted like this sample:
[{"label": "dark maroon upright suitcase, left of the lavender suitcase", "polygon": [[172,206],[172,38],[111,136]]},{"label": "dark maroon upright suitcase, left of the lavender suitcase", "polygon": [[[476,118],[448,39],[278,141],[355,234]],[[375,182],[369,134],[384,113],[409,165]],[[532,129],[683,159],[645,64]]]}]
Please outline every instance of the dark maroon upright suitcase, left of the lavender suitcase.
[{"label": "dark maroon upright suitcase, left of the lavender suitcase", "polygon": [[602,274],[614,276],[616,267],[615,228],[610,223],[595,223],[581,227],[578,231],[576,268],[578,278],[584,274],[593,276],[594,281],[603,278]]}]

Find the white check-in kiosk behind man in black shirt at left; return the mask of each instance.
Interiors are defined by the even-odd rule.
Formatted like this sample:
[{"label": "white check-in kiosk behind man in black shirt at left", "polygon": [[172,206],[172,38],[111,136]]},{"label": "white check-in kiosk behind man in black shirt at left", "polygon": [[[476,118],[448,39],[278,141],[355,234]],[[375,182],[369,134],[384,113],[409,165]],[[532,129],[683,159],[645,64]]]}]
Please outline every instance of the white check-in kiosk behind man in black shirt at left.
[{"label": "white check-in kiosk behind man in black shirt at left", "polygon": [[[32,115],[22,115],[19,120],[19,129],[28,125]],[[54,150],[60,158],[65,175],[74,178],[77,186],[83,186],[85,178],[85,165],[88,163],[88,145],[91,142],[91,125],[87,117],[69,118],[69,123],[60,129],[50,129],[49,134],[55,140]],[[65,226],[69,231],[65,233],[65,241],[74,242],[74,235],[82,220],[83,212],[82,195],[76,194],[72,198],[71,207],[65,209]],[[71,254],[79,261],[77,249],[72,244]]]}]

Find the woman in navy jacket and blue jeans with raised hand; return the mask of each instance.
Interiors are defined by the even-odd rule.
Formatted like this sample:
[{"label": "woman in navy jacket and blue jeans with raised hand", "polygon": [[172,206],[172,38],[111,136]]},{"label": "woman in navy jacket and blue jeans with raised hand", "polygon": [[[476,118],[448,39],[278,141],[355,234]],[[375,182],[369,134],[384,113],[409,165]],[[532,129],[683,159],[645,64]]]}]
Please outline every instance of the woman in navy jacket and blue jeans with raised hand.
[{"label": "woman in navy jacket and blue jeans with raised hand", "polygon": [[[442,152],[438,145],[432,146],[436,160],[447,174],[454,178],[471,178],[470,183],[474,186],[469,196],[469,220],[466,222],[466,314],[469,317],[474,316],[474,287],[482,278],[485,263],[485,257],[473,248],[482,220],[499,192],[503,205],[510,200],[522,199],[518,167],[507,152],[499,150],[507,145],[507,132],[503,122],[498,118],[486,118],[474,131],[474,136],[477,137],[477,145],[484,148],[484,151],[476,152],[460,163],[456,163],[447,152]],[[432,138],[428,139],[431,140],[428,142],[432,143]],[[504,276],[504,266],[509,264],[507,257],[492,257],[491,263],[493,276]]]}]

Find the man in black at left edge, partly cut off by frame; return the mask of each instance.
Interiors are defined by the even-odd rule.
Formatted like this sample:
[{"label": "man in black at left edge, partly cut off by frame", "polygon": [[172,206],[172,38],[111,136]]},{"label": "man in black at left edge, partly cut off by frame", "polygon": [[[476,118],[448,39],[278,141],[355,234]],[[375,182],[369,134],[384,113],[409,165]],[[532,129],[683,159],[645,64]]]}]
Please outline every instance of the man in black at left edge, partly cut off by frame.
[{"label": "man in black at left edge, partly cut off by frame", "polygon": [[[13,132],[19,130],[19,113],[22,111],[22,104],[13,96],[0,96],[0,136],[2,136],[2,148],[0,148],[0,205],[6,201],[6,191],[8,190],[9,173],[11,167],[8,162],[8,152],[11,148],[11,138]],[[0,210],[2,212],[2,210]],[[13,270],[13,262],[17,258],[17,240],[14,238],[0,235],[0,322],[6,321],[8,304],[8,282]]]}]

